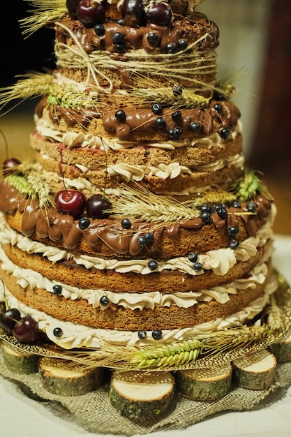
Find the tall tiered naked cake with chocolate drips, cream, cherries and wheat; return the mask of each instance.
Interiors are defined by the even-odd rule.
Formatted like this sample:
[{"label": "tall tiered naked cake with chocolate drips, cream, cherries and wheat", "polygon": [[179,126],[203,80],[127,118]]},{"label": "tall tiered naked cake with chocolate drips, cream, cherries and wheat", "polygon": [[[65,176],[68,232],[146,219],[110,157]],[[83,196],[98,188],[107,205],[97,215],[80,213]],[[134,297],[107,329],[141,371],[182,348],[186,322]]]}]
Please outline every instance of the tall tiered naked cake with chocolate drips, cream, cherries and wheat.
[{"label": "tall tiered naked cake with chocolate drips, cream, cherries and wheat", "polygon": [[8,308],[103,355],[258,322],[278,288],[275,207],[244,165],[216,24],[194,0],[38,3],[24,29],[54,27],[56,69],[3,97],[42,95],[35,161],[3,163]]}]

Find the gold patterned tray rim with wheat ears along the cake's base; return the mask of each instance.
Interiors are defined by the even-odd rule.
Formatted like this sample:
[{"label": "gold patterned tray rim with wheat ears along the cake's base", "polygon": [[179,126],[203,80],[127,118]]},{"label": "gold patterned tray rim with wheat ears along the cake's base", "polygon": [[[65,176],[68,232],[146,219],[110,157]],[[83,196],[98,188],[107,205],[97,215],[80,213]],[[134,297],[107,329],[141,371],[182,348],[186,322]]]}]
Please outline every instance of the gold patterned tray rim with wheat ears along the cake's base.
[{"label": "gold patterned tray rim with wheat ears along the cake's base", "polygon": [[68,361],[70,368],[104,366],[123,370],[195,369],[230,363],[238,357],[262,350],[281,341],[291,329],[291,290],[285,278],[276,274],[278,288],[264,311],[262,325],[235,325],[214,332],[192,334],[182,341],[150,346],[117,346],[106,342],[99,349],[64,350],[59,347],[28,345],[0,329],[0,339],[27,353]]}]

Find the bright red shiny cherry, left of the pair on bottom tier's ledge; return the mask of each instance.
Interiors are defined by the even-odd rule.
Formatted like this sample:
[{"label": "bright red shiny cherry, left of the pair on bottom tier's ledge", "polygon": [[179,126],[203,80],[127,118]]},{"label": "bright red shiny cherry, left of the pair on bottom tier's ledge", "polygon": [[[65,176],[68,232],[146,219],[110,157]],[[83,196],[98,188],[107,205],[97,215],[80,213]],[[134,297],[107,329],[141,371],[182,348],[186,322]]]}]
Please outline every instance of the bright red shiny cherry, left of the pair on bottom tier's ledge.
[{"label": "bright red shiny cherry, left of the pair on bottom tier's ledge", "polygon": [[54,196],[54,202],[61,214],[77,217],[84,212],[86,197],[79,190],[61,190]]}]

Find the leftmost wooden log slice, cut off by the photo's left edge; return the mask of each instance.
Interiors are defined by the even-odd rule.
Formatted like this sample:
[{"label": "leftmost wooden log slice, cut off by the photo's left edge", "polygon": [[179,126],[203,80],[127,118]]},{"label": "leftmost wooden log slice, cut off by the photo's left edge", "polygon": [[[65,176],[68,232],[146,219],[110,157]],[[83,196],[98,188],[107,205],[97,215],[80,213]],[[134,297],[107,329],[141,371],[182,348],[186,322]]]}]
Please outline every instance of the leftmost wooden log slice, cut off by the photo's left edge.
[{"label": "leftmost wooden log slice, cut off by the photo's left edge", "polygon": [[39,356],[24,352],[15,346],[1,342],[3,360],[10,371],[15,373],[37,373]]}]

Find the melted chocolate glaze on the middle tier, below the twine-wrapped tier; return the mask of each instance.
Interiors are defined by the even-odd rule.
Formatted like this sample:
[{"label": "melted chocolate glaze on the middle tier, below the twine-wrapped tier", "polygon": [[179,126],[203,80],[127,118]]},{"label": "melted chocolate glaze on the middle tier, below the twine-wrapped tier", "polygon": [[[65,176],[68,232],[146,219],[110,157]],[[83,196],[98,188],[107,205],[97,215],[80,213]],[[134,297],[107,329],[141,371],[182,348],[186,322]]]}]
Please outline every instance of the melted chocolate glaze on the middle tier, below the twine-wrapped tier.
[{"label": "melted chocolate glaze on the middle tier, below the twine-wrapped tier", "polygon": [[[221,106],[221,111],[215,109],[216,103]],[[181,109],[181,117],[177,121],[172,120],[172,113],[177,109],[165,109],[165,114],[155,115],[151,108],[126,108],[126,120],[124,122],[117,121],[115,110],[86,110],[62,108],[61,106],[47,106],[47,98],[43,98],[36,107],[36,114],[42,117],[43,110],[49,108],[50,119],[55,123],[64,119],[68,126],[79,124],[88,126],[91,119],[102,119],[103,126],[108,132],[115,132],[119,140],[128,140],[132,132],[140,133],[147,132],[151,128],[156,128],[155,121],[158,117],[164,117],[165,126],[156,128],[161,135],[168,138],[168,130],[179,126],[184,133],[188,133],[193,137],[201,135],[211,135],[214,131],[220,131],[223,128],[231,129],[237,125],[240,117],[239,109],[230,101],[211,101],[204,108]],[[191,123],[200,125],[197,133],[191,131]]]}]

